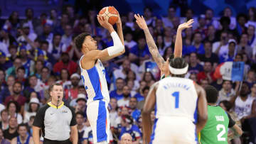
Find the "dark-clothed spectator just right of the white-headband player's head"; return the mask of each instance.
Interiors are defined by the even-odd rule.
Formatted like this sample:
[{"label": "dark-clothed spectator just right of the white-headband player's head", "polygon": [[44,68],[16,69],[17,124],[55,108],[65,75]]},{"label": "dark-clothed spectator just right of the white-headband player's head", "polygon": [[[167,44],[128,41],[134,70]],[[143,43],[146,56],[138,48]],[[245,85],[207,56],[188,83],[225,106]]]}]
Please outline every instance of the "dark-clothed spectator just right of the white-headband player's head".
[{"label": "dark-clothed spectator just right of the white-headband player's head", "polygon": [[198,56],[195,52],[192,52],[189,56],[188,72],[198,74],[203,71],[203,66],[198,63]]}]

